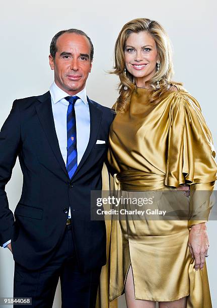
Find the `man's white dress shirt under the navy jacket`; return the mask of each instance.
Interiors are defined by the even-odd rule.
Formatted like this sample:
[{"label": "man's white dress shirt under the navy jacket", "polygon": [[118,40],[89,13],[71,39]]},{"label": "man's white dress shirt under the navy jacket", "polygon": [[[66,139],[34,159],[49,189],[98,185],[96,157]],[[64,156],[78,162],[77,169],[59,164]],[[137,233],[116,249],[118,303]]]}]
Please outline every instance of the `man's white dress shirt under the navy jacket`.
[{"label": "man's white dress shirt under the navy jacket", "polygon": [[[62,158],[66,165],[67,160],[67,109],[69,102],[64,98],[69,96],[66,92],[61,90],[55,82],[50,86],[51,105],[53,111],[53,119],[55,124],[55,130],[57,139],[59,142],[59,148],[62,154]],[[76,113],[76,133],[77,133],[77,152],[78,152],[78,165],[84,155],[90,138],[90,111],[87,101],[86,88],[77,93],[80,99],[75,103]],[[68,218],[71,217],[71,211],[69,208]],[[11,240],[3,244],[3,247],[11,243]]]}]

